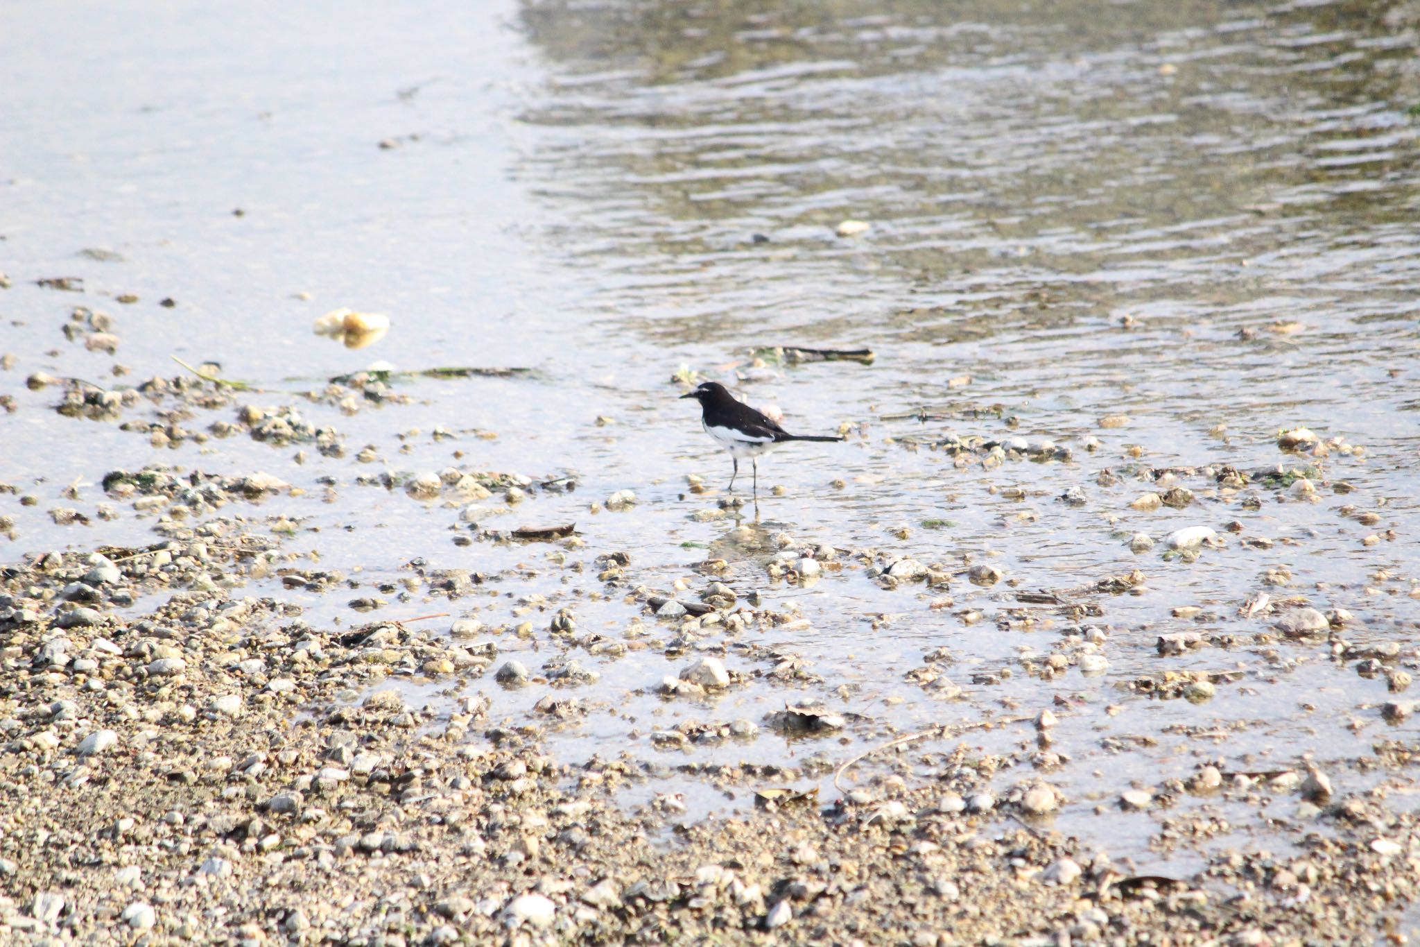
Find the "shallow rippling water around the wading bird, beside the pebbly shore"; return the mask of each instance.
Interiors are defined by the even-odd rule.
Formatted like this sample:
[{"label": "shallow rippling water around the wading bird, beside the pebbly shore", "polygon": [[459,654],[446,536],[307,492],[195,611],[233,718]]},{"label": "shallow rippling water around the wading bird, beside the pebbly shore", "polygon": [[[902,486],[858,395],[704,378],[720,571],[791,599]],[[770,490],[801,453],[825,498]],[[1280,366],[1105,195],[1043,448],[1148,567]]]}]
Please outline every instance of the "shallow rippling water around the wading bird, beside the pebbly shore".
[{"label": "shallow rippling water around the wading bird, beside the pebbly shore", "polygon": [[[61,501],[75,477],[97,484],[145,463],[268,470],[310,493],[261,513],[318,530],[287,548],[318,549],[322,568],[351,572],[362,588],[349,598],[406,576],[419,557],[486,572],[491,593],[456,602],[460,615],[494,628],[531,620],[530,639],[508,630],[497,640],[537,670],[564,649],[547,630],[559,606],[609,637],[633,628],[639,608],[622,591],[594,598],[596,555],[629,551],[630,585],[669,591],[686,578],[687,596],[706,582],[693,566],[724,558],[724,581],[741,595],[761,589],[770,608],[797,606],[809,628],[706,636],[699,646],[723,649],[731,669],[755,676],[703,704],[655,693],[693,652],[572,653],[602,677],[559,691],[594,708],[550,737],[565,761],[625,751],[655,764],[657,775],[628,804],[680,792],[690,816],[748,805],[748,792],[726,798],[677,765],[801,765],[818,755],[828,799],[831,768],[892,735],[1052,706],[1052,748],[1068,757],[1058,770],[1025,761],[1028,724],[922,743],[896,760],[926,775],[957,743],[1014,754],[1017,765],[993,782],[998,792],[1048,779],[1068,799],[1058,828],[1160,873],[1193,865],[1150,848],[1164,818],[1220,812],[1235,829],[1223,842],[1279,842],[1255,808],[1237,804],[1180,798],[1167,814],[1120,814],[1115,799],[1132,782],[1157,787],[1203,761],[1233,772],[1304,760],[1321,764],[1339,794],[1403,781],[1350,765],[1376,740],[1414,738],[1413,723],[1380,720],[1386,680],[1359,677],[1325,642],[1255,642],[1271,619],[1242,619],[1237,608],[1264,589],[1268,569],[1287,566],[1294,578],[1267,588],[1274,599],[1348,609],[1355,620],[1343,637],[1399,642],[1402,663],[1414,662],[1413,7],[1238,3],[1220,16],[1216,4],[1152,0],[609,0],[432,4],[417,14],[348,4],[78,11],[14,11],[0,57],[0,80],[16,89],[0,135],[0,271],[14,283],[0,292],[0,352],[17,356],[0,375],[0,393],[17,403],[0,420],[10,444],[0,480],[41,497],[33,508],[3,500],[17,528],[7,559],[151,541],[149,521],[132,511],[88,528],[50,524],[50,507],[101,500],[89,486],[80,503]],[[87,55],[54,75],[44,51],[61,43]],[[835,236],[848,219],[870,229]],[[85,248],[122,258],[80,256]],[[34,284],[57,275],[82,277],[85,292]],[[139,301],[112,298],[124,292]],[[163,297],[176,307],[158,305]],[[214,359],[229,378],[267,389],[241,403],[298,403],[334,425],[351,456],[312,450],[297,464],[294,447],[246,437],[153,449],[114,425],[58,416],[54,389],[24,388],[30,372],[101,381],[115,361],[60,335],[74,305],[115,317],[116,361],[131,375],[108,383],[178,373],[173,355]],[[386,312],[393,328],[354,352],[312,335],[314,318],[341,305]],[[876,359],[751,359],[753,348],[781,344],[868,346]],[[375,359],[535,372],[409,382],[399,390],[415,403],[354,416],[294,395]],[[696,522],[690,514],[721,494],[687,493],[686,476],[719,490],[728,463],[693,405],[676,400],[684,389],[670,379],[682,366],[751,403],[780,405],[791,430],[846,425],[848,443],[767,457],[757,525],[753,507],[747,528]],[[1100,426],[1115,415],[1127,420]],[[436,426],[459,437],[435,440]],[[1295,426],[1365,453],[1284,454],[1277,432]],[[995,467],[967,456],[958,467],[933,449],[947,434],[1044,437],[1072,454]],[[382,460],[356,463],[365,444]],[[354,483],[385,469],[437,470],[454,450],[473,469],[574,477],[575,491],[534,493],[511,511],[486,503],[480,525],[575,521],[585,547],[568,549],[565,564],[550,558],[555,545],[456,547],[457,507]],[[1316,501],[1180,474],[1197,494],[1187,508],[1129,507],[1153,488],[1140,478],[1149,469],[1278,463],[1318,466]],[[1102,478],[1106,470],[1118,481]],[[332,503],[322,503],[318,477],[335,478]],[[1355,491],[1333,493],[1335,481]],[[784,496],[770,496],[772,486]],[[622,488],[638,494],[632,510],[589,510]],[[1059,500],[1072,490],[1082,505]],[[1343,517],[1343,504],[1380,521]],[[1240,532],[1224,531],[1231,521]],[[1162,545],[1137,555],[1126,545],[1136,531],[1160,540],[1189,525],[1218,530],[1225,545],[1193,562],[1166,559]],[[1396,538],[1362,544],[1386,530]],[[1007,581],[888,591],[845,554],[842,572],[790,586],[764,571],[781,532],[957,572],[991,562]],[[567,568],[577,562],[585,571]],[[1132,569],[1146,575],[1142,589],[1079,591]],[[1103,609],[1085,623],[1108,635],[1105,673],[1071,667],[1045,681],[1025,672],[1025,657],[1059,650],[1075,623],[1017,601],[1035,589]],[[261,584],[250,593],[293,598],[317,625],[446,608],[415,593],[358,615],[341,592]],[[531,593],[551,608],[515,615]],[[943,595],[953,605],[933,609]],[[1204,615],[1172,616],[1189,605]],[[966,609],[981,620],[966,623]],[[645,640],[674,636],[667,623],[643,622]],[[1234,635],[1237,645],[1157,656],[1157,635],[1176,630]],[[744,643],[795,653],[822,680],[775,683],[764,676],[772,664]],[[941,670],[963,687],[958,700],[930,700],[903,677],[939,647],[953,656]],[[1201,704],[1129,690],[1143,676],[1187,670],[1238,680]],[[449,681],[403,686],[449,703]],[[487,694],[494,720],[520,723],[548,693],[506,691],[491,674],[460,687]],[[842,738],[787,744],[764,717],[801,697],[858,718]],[[652,747],[650,731],[684,718],[748,718],[764,730],[750,744]],[[926,754],[934,760],[923,764]],[[882,771],[873,760],[853,775]],[[1295,797],[1274,809],[1291,818]]]}]

